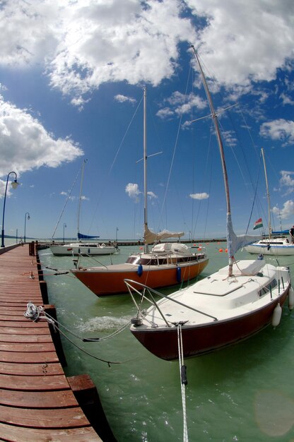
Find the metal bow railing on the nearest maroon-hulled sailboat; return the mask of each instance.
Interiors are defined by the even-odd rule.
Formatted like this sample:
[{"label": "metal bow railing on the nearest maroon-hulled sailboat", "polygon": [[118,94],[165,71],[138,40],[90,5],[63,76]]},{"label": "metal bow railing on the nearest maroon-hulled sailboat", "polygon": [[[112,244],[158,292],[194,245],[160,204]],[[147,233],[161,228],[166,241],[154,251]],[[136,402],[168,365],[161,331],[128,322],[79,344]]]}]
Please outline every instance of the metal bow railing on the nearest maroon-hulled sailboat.
[{"label": "metal bow railing on the nearest maroon-hulled sailboat", "polygon": [[[167,327],[172,327],[171,323],[167,321],[167,319],[165,318],[165,315],[160,310],[160,306],[158,306],[158,302],[156,301],[155,296],[168,299],[169,301],[175,302],[175,304],[178,304],[178,305],[184,307],[185,309],[196,311],[196,313],[200,313],[201,315],[207,316],[208,318],[213,319],[213,321],[218,321],[218,318],[216,318],[216,316],[212,316],[208,313],[205,313],[204,311],[194,309],[194,307],[184,304],[181,301],[177,301],[177,299],[171,298],[167,294],[158,292],[157,290],[152,289],[151,287],[148,287],[148,285],[142,284],[141,282],[125,279],[124,283],[127,285],[127,289],[129,291],[129,294],[131,295],[131,299],[133,300],[133,302],[136,306],[136,309],[137,309],[136,318],[134,318],[134,320],[132,321],[132,323],[134,323],[134,325],[136,325],[136,324],[139,325],[141,316],[146,318],[145,309],[143,308],[143,301],[145,300],[148,303],[155,306],[155,308],[160,313],[160,316],[163,318],[163,321],[165,321]],[[136,301],[134,294],[139,295],[139,302]],[[156,326],[156,325],[154,324],[154,326]]]}]

